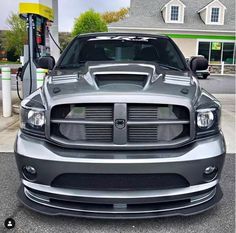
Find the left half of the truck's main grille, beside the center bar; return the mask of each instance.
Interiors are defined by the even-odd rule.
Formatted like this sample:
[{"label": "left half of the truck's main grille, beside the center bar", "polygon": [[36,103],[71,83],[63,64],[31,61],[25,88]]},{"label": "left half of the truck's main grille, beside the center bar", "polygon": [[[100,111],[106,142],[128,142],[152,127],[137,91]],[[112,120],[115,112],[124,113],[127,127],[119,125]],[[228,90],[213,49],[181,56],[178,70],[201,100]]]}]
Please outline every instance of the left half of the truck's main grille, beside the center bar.
[{"label": "left half of the truck's main grille, beside the center bar", "polygon": [[51,112],[51,135],[74,142],[112,142],[113,126],[99,124],[112,120],[111,104],[59,105]]}]

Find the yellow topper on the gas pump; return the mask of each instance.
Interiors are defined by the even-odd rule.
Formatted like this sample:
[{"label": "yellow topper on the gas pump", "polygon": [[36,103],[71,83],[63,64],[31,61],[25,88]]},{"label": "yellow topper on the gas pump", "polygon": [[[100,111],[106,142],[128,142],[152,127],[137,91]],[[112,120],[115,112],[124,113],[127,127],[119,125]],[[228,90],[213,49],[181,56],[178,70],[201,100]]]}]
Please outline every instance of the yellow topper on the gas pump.
[{"label": "yellow topper on the gas pump", "polygon": [[36,14],[53,21],[52,0],[25,0],[19,4],[19,13]]}]

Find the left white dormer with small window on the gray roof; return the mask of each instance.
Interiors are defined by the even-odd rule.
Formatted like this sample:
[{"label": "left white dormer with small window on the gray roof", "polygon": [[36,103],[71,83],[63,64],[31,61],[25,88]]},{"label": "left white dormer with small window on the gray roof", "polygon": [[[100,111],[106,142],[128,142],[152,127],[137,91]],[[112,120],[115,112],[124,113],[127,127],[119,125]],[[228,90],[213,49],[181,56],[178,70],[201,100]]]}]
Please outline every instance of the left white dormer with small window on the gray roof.
[{"label": "left white dormer with small window on the gray roof", "polygon": [[171,0],[162,9],[165,23],[184,23],[185,5],[180,0]]}]

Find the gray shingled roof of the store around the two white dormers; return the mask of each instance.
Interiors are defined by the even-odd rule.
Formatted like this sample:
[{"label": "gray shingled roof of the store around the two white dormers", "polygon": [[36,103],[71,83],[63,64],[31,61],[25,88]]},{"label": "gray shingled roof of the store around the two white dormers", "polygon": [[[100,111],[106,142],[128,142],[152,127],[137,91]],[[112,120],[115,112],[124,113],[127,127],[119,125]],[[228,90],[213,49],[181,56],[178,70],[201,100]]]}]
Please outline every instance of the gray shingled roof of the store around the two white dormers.
[{"label": "gray shingled roof of the store around the two white dormers", "polygon": [[195,29],[235,31],[235,1],[221,0],[226,7],[224,25],[206,25],[200,18],[198,11],[212,0],[182,0],[185,8],[183,24],[165,23],[161,8],[170,0],[131,0],[130,16],[110,27],[137,27],[163,29]]}]

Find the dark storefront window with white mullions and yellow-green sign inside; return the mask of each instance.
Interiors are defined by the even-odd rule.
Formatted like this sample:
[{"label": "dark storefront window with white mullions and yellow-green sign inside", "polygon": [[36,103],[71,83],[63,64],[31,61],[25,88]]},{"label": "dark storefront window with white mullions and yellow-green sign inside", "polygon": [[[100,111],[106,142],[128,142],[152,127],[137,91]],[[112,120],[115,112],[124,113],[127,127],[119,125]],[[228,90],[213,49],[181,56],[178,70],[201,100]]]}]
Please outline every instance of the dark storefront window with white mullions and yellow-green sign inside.
[{"label": "dark storefront window with white mullions and yellow-green sign inside", "polygon": [[203,55],[211,64],[235,64],[236,46],[233,42],[199,42],[198,55]]}]

